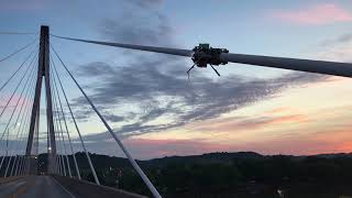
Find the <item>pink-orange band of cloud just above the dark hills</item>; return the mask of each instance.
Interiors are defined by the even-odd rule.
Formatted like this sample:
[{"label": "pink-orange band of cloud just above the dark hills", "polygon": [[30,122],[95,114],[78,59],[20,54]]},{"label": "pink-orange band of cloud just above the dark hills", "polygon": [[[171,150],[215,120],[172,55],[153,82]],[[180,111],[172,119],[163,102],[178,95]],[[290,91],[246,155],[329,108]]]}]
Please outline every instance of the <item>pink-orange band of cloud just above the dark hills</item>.
[{"label": "pink-orange band of cloud just above the dark hills", "polygon": [[198,140],[130,139],[124,143],[136,158],[155,158],[173,155],[199,155],[211,152],[253,151],[265,155],[315,155],[321,153],[349,153],[352,151],[350,127],[307,135],[290,134],[265,141],[235,143]]}]

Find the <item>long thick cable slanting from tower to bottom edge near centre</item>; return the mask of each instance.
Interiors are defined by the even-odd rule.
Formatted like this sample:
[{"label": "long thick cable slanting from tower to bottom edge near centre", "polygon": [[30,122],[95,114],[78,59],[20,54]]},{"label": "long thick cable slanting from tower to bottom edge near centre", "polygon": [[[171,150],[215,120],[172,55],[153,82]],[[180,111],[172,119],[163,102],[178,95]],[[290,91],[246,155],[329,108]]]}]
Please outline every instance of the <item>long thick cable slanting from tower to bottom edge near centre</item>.
[{"label": "long thick cable slanting from tower to bottom edge near centre", "polygon": [[53,52],[55,53],[55,55],[57,56],[57,58],[59,59],[59,62],[62,63],[62,65],[64,66],[64,68],[66,69],[66,72],[68,73],[68,75],[70,76],[70,78],[74,80],[74,82],[76,84],[76,86],[78,87],[78,89],[80,90],[80,92],[85,96],[86,100],[89,102],[89,105],[91,106],[91,108],[95,110],[95,112],[98,114],[98,117],[100,118],[100,120],[102,121],[102,123],[105,124],[105,127],[108,129],[108,131],[110,132],[111,136],[117,141],[117,143],[120,145],[122,152],[127,155],[127,157],[129,158],[131,165],[133,166],[133,168],[138,172],[138,174],[140,175],[140,177],[143,179],[144,184],[147,186],[147,188],[151,190],[151,193],[153,194],[153,196],[155,198],[161,198],[162,196],[158,194],[158,191],[156,190],[156,188],[154,187],[154,185],[151,183],[151,180],[147,178],[147,176],[144,174],[144,172],[142,170],[142,168],[136,164],[136,162],[134,161],[134,158],[132,157],[132,155],[130,154],[130,152],[127,150],[127,147],[123,145],[123,143],[120,141],[120,139],[117,136],[117,134],[113,132],[113,130],[110,128],[110,125],[108,124],[108,122],[106,121],[106,119],[101,116],[101,113],[98,111],[98,109],[96,108],[96,106],[92,103],[92,101],[89,99],[89,97],[87,96],[87,94],[84,91],[84,89],[80,87],[80,85],[77,82],[76,78],[73,76],[73,74],[68,70],[68,68],[66,67],[66,65],[64,64],[63,59],[58,56],[58,54],[56,53],[55,48],[52,46]]}]

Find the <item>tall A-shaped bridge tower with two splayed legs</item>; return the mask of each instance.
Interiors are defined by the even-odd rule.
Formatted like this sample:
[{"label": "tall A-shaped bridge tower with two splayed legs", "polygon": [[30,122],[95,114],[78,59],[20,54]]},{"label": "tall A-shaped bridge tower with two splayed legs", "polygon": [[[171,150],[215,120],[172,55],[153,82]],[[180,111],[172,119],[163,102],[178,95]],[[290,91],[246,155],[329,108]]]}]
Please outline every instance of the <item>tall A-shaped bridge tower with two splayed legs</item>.
[{"label": "tall A-shaped bridge tower with two splayed legs", "polygon": [[[37,69],[37,78],[35,85],[35,96],[32,108],[31,116],[31,125],[30,133],[26,144],[26,160],[29,161],[29,169],[30,174],[36,174],[37,172],[37,156],[32,155],[32,146],[34,140],[35,129],[38,128],[40,124],[40,106],[41,106],[41,94],[42,94],[42,85],[43,77],[45,82],[45,94],[46,94],[46,121],[48,129],[48,139],[50,139],[50,148],[48,153],[48,174],[54,174],[55,166],[55,157],[56,157],[56,144],[55,144],[55,132],[54,132],[54,123],[53,123],[53,107],[52,107],[52,90],[51,90],[51,76],[50,76],[50,28],[41,26],[41,42],[40,42],[40,54],[38,54],[38,69]],[[38,135],[38,134],[36,134]],[[36,144],[37,146],[37,144]]]}]

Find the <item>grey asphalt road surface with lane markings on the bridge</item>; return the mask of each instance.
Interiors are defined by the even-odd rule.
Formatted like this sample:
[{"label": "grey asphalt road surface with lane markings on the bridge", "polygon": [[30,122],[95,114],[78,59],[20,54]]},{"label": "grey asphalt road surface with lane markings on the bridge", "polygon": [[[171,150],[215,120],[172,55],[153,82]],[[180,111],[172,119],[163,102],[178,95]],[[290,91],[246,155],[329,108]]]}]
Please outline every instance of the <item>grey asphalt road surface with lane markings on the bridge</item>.
[{"label": "grey asphalt road surface with lane markings on the bridge", "polygon": [[30,176],[0,185],[0,198],[74,198],[50,176]]}]

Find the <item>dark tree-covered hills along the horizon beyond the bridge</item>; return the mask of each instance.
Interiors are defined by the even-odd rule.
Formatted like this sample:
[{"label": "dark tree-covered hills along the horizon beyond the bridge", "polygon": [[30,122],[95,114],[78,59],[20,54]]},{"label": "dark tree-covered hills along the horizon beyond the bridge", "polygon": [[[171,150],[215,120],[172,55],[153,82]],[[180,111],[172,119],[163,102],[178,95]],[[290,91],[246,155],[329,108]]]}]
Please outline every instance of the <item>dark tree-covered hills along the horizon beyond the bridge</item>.
[{"label": "dark tree-covered hills along the horizon beyond the bridge", "polygon": [[[77,153],[76,157],[82,178],[94,182],[86,155]],[[101,184],[151,196],[127,158],[99,154],[90,157]],[[38,161],[40,172],[45,172],[46,154],[41,154]],[[76,175],[72,156],[69,162]],[[162,195],[170,198],[273,198],[278,196],[277,189],[288,197],[352,196],[351,153],[293,156],[221,152],[138,163]]]}]

